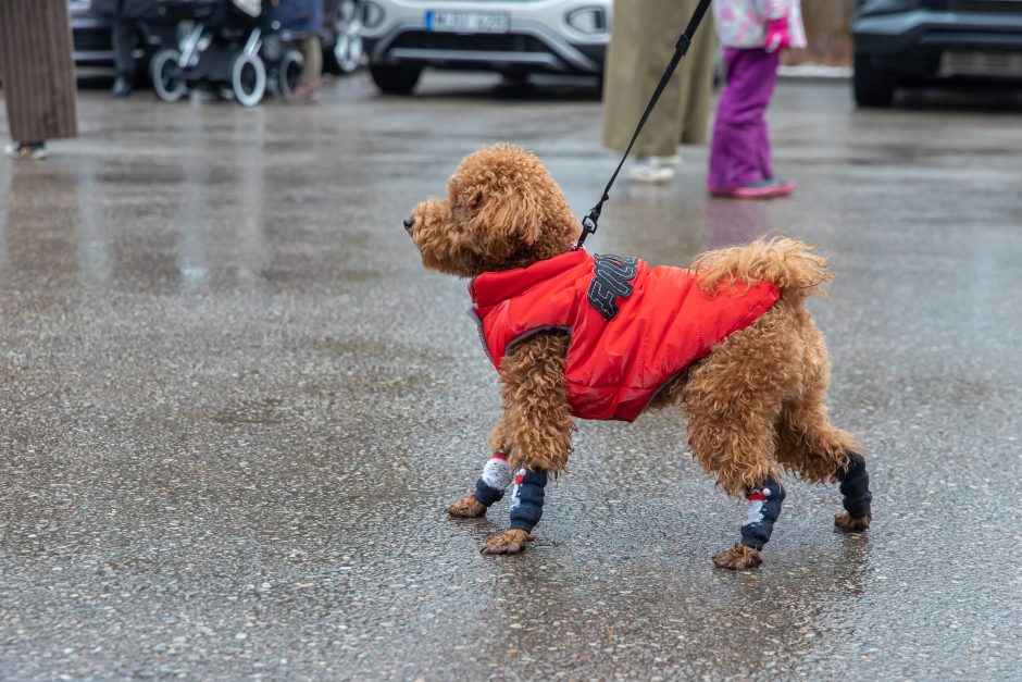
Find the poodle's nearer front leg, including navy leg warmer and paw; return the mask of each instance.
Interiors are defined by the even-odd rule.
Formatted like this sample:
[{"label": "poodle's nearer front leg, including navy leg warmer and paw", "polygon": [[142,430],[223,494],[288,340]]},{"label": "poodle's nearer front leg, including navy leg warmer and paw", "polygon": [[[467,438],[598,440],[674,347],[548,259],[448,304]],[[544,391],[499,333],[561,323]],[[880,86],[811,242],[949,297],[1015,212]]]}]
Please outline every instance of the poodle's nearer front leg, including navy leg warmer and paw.
[{"label": "poodle's nearer front leg, including navy leg warmer and paw", "polygon": [[523,342],[501,362],[503,414],[495,430],[511,446],[516,468],[510,530],[490,537],[483,554],[518,554],[533,540],[543,516],[548,475],[568,466],[574,424],[564,385],[568,338],[539,334]]}]

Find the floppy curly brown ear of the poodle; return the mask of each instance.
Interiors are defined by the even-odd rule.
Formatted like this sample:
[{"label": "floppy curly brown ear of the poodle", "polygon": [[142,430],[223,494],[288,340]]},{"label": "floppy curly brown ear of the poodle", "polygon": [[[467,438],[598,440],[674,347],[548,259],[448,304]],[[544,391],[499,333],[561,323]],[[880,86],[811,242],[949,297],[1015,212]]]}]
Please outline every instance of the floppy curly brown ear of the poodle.
[{"label": "floppy curly brown ear of the poodle", "polygon": [[478,187],[469,208],[465,227],[475,235],[486,256],[501,260],[539,239],[545,203],[524,174],[499,169]]}]

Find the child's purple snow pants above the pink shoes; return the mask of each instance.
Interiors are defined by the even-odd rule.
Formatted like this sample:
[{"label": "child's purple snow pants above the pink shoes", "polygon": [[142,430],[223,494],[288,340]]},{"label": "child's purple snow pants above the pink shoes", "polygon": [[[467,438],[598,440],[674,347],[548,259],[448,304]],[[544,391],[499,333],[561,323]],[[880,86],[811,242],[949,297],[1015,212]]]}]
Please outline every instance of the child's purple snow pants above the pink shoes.
[{"label": "child's purple snow pants above the pink shoes", "polygon": [[766,142],[763,112],[777,79],[777,54],[761,49],[725,48],[727,84],[721,94],[710,148],[711,191],[751,185],[764,178]]}]

